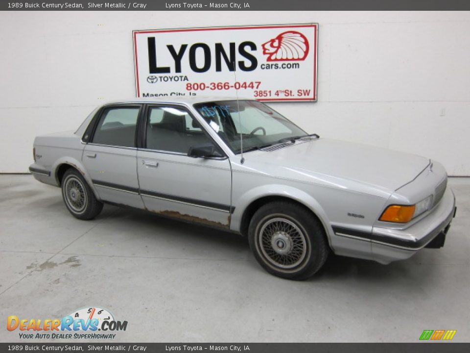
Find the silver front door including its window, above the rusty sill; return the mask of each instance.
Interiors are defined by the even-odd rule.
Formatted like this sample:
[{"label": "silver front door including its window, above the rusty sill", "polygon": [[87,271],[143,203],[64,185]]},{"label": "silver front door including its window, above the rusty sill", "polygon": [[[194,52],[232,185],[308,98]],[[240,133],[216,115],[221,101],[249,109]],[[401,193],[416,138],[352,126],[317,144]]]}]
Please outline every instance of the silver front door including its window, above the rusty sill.
[{"label": "silver front door including its window, above the rusty sill", "polygon": [[137,151],[145,207],[171,217],[229,227],[229,159],[188,157],[191,146],[214,142],[182,106],[149,105],[145,125],[144,148]]}]

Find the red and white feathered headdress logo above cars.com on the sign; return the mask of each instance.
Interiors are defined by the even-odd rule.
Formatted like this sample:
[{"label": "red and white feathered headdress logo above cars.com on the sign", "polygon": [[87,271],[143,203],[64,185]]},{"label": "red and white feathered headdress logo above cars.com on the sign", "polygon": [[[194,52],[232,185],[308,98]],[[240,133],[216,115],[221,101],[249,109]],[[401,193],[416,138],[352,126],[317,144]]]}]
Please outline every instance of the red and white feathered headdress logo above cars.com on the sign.
[{"label": "red and white feathered headdress logo above cars.com on the sign", "polygon": [[308,54],[308,40],[300,32],[287,31],[262,45],[267,61],[301,61]]}]

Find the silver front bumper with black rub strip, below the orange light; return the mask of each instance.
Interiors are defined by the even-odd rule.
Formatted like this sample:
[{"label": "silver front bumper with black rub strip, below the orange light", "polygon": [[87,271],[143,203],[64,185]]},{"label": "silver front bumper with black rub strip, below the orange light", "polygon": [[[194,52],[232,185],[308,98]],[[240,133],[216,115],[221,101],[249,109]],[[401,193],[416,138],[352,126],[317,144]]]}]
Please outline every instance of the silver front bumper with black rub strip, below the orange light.
[{"label": "silver front bumper with black rub strip, below the orange light", "polygon": [[[373,227],[372,255],[380,263],[406,259],[428,244],[444,245],[452,218],[455,217],[455,196],[447,188],[441,202],[419,222],[406,229]],[[436,239],[437,238],[437,239]],[[436,239],[435,244],[431,243]]]}]

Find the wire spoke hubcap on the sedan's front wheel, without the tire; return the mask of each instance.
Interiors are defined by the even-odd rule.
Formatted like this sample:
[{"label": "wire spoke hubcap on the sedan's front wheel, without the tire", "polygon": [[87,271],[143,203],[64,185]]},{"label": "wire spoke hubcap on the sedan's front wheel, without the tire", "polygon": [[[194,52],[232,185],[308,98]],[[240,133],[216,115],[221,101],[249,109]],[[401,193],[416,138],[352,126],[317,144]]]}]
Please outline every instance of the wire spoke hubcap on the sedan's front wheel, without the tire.
[{"label": "wire spoke hubcap on the sedan's front wheel, without the tire", "polygon": [[305,259],[305,234],[295,223],[285,218],[273,218],[259,230],[259,248],[272,264],[290,269]]}]

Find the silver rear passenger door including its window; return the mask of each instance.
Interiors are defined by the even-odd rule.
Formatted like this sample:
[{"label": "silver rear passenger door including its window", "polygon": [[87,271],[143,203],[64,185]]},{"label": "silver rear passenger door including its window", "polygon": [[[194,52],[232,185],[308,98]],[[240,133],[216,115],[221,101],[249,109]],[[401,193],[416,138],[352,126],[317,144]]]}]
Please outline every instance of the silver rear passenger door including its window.
[{"label": "silver rear passenger door including its window", "polygon": [[140,111],[140,104],[102,109],[82,160],[102,200],[143,208],[136,148]]}]

